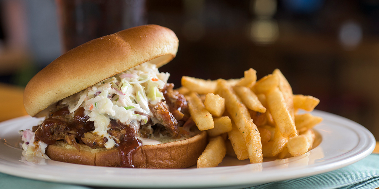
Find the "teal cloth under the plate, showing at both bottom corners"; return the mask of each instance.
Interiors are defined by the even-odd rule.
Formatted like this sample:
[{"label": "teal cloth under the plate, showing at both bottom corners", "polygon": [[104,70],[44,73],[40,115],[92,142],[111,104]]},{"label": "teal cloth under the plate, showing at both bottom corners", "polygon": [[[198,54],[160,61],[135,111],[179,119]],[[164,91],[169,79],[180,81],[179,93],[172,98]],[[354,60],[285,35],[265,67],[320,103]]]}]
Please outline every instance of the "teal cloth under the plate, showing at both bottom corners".
[{"label": "teal cloth under the plate, showing at both bottom corners", "polygon": [[[309,177],[276,181],[248,189],[371,189],[379,187],[379,154],[371,154],[362,161],[350,166]],[[0,173],[1,189],[90,189],[86,186],[75,186],[51,183],[26,178],[14,177]]]}]

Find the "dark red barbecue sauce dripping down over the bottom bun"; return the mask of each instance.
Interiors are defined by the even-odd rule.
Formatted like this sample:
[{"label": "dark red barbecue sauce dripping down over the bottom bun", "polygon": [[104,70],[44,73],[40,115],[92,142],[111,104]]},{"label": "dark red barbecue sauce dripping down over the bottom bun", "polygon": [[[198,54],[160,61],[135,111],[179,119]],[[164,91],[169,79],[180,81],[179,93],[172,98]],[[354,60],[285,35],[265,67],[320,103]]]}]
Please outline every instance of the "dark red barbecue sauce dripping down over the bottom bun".
[{"label": "dark red barbecue sauce dripping down over the bottom bun", "polygon": [[111,128],[115,131],[119,129],[119,150],[120,166],[121,167],[133,167],[134,153],[141,147],[141,142],[137,139],[137,133],[132,125],[124,125],[120,121],[114,119],[110,120]]}]

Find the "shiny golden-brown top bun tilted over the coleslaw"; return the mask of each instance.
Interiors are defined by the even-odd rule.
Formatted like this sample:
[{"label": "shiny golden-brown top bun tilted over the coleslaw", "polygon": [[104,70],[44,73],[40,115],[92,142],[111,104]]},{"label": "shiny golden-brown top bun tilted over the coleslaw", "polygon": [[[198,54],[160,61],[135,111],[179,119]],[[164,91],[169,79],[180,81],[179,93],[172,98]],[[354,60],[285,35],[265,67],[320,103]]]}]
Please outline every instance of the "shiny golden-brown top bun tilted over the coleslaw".
[{"label": "shiny golden-brown top bun tilted over the coleslaw", "polygon": [[26,112],[45,116],[51,104],[104,79],[150,61],[161,67],[177,53],[179,40],[168,28],[144,25],[91,40],[39,71],[23,93]]}]

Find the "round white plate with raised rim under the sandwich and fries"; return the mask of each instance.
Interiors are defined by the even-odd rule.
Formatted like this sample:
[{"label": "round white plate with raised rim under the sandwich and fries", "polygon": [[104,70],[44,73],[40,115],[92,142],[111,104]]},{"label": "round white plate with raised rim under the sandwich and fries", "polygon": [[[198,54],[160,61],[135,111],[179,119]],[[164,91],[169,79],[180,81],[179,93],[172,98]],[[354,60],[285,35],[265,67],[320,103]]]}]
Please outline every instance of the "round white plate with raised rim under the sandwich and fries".
[{"label": "round white plate with raised rim under the sandwich and fries", "polygon": [[368,156],[374,136],[362,125],[326,112],[314,111],[324,121],[315,127],[322,142],[304,155],[259,164],[226,158],[222,164],[244,164],[205,169],[132,169],[96,167],[47,160],[23,163],[18,130],[31,129],[38,120],[21,117],[0,123],[0,172],[60,183],[114,187],[243,188],[271,181],[315,175],[348,166]]}]

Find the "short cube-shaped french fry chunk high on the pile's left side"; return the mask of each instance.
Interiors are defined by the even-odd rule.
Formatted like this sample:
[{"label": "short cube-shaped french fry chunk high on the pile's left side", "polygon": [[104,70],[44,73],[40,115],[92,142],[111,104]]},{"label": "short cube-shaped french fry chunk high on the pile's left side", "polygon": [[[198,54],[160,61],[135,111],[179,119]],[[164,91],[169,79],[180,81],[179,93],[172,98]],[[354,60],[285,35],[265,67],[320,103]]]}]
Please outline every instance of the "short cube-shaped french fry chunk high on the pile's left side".
[{"label": "short cube-shaped french fry chunk high on the pile's left side", "polygon": [[215,117],[222,116],[225,111],[225,99],[219,95],[208,93],[204,101],[205,108]]}]

